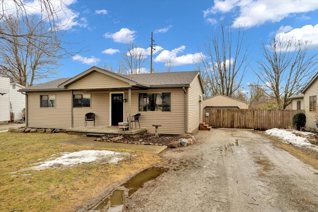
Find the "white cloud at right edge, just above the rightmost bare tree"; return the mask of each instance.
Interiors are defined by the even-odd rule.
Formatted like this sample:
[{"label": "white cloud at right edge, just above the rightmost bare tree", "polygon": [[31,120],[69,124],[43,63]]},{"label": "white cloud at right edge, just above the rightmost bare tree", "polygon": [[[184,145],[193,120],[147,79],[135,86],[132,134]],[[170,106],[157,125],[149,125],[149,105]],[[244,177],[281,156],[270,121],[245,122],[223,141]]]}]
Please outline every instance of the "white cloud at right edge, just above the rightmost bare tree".
[{"label": "white cloud at right edge, just above the rightmost bare tree", "polygon": [[285,39],[295,39],[295,40],[303,40],[303,41],[311,41],[308,44],[310,49],[318,48],[318,24],[313,25],[305,25],[301,28],[295,28],[291,30],[282,30],[276,34],[276,37],[281,37]]}]

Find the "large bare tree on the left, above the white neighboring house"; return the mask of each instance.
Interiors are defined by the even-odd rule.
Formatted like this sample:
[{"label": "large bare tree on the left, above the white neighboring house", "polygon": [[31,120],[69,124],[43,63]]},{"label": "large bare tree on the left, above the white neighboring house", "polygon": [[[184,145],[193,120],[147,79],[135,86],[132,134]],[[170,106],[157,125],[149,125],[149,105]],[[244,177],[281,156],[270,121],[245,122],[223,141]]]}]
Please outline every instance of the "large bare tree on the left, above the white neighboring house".
[{"label": "large bare tree on the left, above the white neighboring house", "polygon": [[[57,36],[41,36],[47,33],[47,25],[29,16],[28,22],[13,15],[2,16],[1,28],[9,32],[0,39],[0,74],[23,86],[34,81],[57,75],[57,53],[61,50]],[[30,36],[18,36],[22,31]],[[16,36],[15,36],[16,35]],[[4,36],[4,35],[3,35]]]}]

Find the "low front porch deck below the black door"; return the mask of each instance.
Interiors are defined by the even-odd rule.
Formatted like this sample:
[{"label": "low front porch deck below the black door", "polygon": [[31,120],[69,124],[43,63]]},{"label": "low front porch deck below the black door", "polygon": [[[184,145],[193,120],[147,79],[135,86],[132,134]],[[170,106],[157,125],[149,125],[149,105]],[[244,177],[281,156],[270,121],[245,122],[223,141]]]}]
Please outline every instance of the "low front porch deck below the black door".
[{"label": "low front porch deck below the black door", "polygon": [[147,132],[147,128],[133,128],[132,130],[120,130],[118,126],[86,126],[66,129],[69,134],[112,134],[112,135],[135,135]]}]

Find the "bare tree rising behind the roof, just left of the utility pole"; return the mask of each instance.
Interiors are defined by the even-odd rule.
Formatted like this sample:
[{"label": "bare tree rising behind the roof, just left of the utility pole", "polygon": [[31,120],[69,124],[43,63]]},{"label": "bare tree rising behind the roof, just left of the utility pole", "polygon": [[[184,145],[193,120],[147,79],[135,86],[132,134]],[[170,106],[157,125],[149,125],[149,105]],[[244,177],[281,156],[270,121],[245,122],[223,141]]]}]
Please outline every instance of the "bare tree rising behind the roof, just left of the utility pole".
[{"label": "bare tree rising behind the roof, just left of the utility pole", "polygon": [[141,74],[144,71],[146,62],[145,49],[137,47],[137,44],[127,44],[127,52],[122,54],[126,74]]}]

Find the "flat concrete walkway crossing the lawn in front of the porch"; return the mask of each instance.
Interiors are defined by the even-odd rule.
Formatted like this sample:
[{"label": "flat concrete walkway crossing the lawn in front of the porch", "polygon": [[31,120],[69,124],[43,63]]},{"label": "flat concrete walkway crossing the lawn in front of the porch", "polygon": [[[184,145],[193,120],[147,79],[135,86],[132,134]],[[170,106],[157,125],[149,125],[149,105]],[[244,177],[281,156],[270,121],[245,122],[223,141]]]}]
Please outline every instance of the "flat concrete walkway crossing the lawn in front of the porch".
[{"label": "flat concrete walkway crossing the lawn in front of the porch", "polygon": [[155,146],[155,145],[142,145],[142,144],[127,144],[127,143],[112,143],[112,142],[102,142],[94,141],[94,137],[80,137],[68,141],[63,141],[64,144],[82,145],[82,146],[92,146],[92,147],[102,147],[102,148],[114,148],[114,149],[127,149],[133,151],[146,151],[159,154],[165,150],[166,146]]}]

